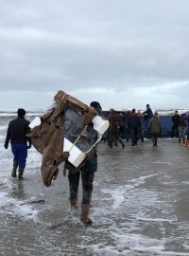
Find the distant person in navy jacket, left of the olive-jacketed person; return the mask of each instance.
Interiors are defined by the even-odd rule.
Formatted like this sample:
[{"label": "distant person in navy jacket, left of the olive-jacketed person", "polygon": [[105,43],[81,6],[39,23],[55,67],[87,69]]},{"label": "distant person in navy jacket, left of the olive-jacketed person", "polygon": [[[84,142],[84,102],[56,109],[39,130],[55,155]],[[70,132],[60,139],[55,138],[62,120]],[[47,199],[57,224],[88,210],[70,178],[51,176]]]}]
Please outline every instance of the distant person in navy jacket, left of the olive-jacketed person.
[{"label": "distant person in navy jacket, left of the olive-jacketed person", "polygon": [[141,121],[139,119],[138,114],[136,113],[135,108],[132,109],[129,115],[128,126],[129,126],[130,137],[131,137],[131,145],[135,146],[137,145],[137,142],[139,139],[139,132],[141,131]]}]

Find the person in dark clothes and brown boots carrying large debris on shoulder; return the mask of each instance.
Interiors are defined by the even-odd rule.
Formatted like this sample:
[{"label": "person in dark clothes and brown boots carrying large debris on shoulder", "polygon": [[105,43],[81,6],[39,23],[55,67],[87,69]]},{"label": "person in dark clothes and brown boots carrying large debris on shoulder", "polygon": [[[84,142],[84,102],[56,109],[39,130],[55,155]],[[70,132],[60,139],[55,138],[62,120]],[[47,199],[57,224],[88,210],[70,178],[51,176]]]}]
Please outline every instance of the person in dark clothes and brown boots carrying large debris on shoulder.
[{"label": "person in dark clothes and brown boots carrying large debris on shoulder", "polygon": [[[90,104],[96,112],[101,115],[102,108],[97,101],[92,101]],[[92,225],[93,221],[89,217],[91,199],[93,192],[94,173],[97,171],[97,148],[93,148],[90,156],[85,160],[84,165],[78,170],[73,168],[72,164],[65,161],[64,168],[68,170],[69,190],[70,190],[70,205],[72,210],[77,210],[77,196],[79,178],[82,180],[82,206],[80,220],[86,225]]]}]

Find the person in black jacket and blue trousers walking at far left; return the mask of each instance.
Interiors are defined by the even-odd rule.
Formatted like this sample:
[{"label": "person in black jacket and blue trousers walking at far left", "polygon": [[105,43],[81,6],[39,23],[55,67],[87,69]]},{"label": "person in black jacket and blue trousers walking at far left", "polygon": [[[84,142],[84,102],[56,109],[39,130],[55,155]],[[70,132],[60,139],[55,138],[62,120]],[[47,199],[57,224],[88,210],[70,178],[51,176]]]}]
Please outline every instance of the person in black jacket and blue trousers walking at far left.
[{"label": "person in black jacket and blue trousers walking at far left", "polygon": [[[19,108],[17,111],[18,118],[12,119],[9,122],[9,127],[7,131],[7,137],[4,144],[5,149],[9,147],[9,140],[11,144],[11,151],[14,155],[13,158],[13,169],[11,176],[16,177],[16,171],[18,169],[19,179],[23,179],[24,170],[26,168],[26,157],[27,149],[31,147],[31,140],[29,137],[30,128],[29,121],[25,119],[26,110]],[[28,145],[27,145],[28,143]]]}]

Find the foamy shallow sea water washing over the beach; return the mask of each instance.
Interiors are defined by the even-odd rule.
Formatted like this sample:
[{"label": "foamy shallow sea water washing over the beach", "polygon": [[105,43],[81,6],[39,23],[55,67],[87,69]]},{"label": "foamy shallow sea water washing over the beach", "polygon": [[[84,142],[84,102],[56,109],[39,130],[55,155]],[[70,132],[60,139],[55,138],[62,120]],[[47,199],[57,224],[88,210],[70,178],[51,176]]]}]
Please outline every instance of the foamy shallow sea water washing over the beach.
[{"label": "foamy shallow sea water washing over the beach", "polygon": [[[26,113],[32,121],[42,110]],[[12,153],[4,148],[15,110],[0,110],[1,256],[189,255],[189,148],[178,138],[98,145],[91,207],[84,226],[69,205],[67,175],[60,165],[51,187],[43,186],[42,155],[28,150],[24,180],[11,177]]]}]

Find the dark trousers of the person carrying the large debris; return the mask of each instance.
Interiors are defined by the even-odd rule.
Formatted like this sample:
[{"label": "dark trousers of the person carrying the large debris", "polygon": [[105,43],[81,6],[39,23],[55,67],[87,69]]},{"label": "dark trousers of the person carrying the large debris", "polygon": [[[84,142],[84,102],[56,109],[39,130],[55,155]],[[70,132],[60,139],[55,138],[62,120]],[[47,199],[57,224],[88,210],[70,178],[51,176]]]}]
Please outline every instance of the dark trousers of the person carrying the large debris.
[{"label": "dark trousers of the person carrying the large debris", "polygon": [[69,172],[70,200],[77,198],[80,174],[82,180],[82,205],[90,204],[93,192],[94,172],[81,171],[74,174]]}]

